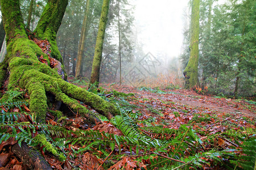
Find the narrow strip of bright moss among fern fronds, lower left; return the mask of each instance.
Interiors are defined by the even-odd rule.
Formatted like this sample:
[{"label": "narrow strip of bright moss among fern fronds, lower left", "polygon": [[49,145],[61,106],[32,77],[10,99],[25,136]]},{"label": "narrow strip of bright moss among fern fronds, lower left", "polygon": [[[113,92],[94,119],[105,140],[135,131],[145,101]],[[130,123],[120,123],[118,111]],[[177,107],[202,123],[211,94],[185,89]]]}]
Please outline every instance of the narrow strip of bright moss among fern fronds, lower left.
[{"label": "narrow strip of bright moss among fern fronds, lower left", "polygon": [[34,138],[35,141],[37,143],[39,143],[40,146],[44,146],[44,148],[46,148],[46,150],[50,153],[52,153],[53,155],[57,156],[57,158],[59,158],[59,160],[61,162],[63,162],[66,158],[63,154],[57,152],[57,148],[53,147],[51,145],[51,143],[49,143],[47,140],[46,140],[46,136],[43,135],[43,134],[38,134],[36,135],[36,137]]}]

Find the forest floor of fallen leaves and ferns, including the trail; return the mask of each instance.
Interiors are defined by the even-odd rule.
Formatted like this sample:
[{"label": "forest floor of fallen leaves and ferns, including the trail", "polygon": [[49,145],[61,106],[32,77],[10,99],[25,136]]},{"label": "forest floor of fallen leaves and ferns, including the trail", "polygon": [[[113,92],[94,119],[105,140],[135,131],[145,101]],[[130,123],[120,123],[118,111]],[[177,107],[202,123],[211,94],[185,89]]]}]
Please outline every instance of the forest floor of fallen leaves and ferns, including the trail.
[{"label": "forest floor of fallen leaves and ferns, including the trail", "polygon": [[[81,80],[75,80],[73,84],[87,89]],[[241,166],[245,160],[236,155],[245,153],[250,156],[251,151],[246,152],[247,146],[255,148],[256,102],[253,100],[200,95],[190,90],[117,84],[100,84],[98,89],[91,91],[117,105],[120,115],[110,121],[99,116],[100,122],[90,125],[82,115],[73,112],[62,119],[49,112],[47,126],[42,125],[42,128],[27,133],[23,122],[31,127],[41,125],[31,122],[30,110],[26,107],[29,98],[21,90],[16,92],[22,95],[17,100],[24,98],[23,103],[15,104],[13,108],[7,104],[1,106],[5,111],[2,112],[10,116],[5,118],[3,114],[0,125],[7,127],[6,133],[11,134],[14,129],[18,131],[16,135],[24,133],[32,143],[35,134],[42,134],[44,129],[43,133],[51,138],[51,145],[66,156],[65,161],[60,161],[44,146],[33,144],[53,169],[226,169]],[[13,115],[19,113],[23,114],[18,119],[20,127],[15,124],[14,128],[5,121],[13,121]],[[57,129],[54,132],[51,128]],[[0,169],[26,169],[20,156],[11,151],[11,146],[23,139],[15,140],[12,137],[0,142]],[[255,165],[255,162],[246,163]]]}]

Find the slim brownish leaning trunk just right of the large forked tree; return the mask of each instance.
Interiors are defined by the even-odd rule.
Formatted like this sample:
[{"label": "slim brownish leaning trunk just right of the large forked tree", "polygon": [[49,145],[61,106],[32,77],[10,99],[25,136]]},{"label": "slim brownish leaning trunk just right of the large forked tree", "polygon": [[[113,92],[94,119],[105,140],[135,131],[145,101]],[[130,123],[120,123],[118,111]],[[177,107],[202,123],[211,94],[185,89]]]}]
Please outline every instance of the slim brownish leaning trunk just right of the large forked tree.
[{"label": "slim brownish leaning trunk just right of the large forked tree", "polygon": [[89,6],[90,6],[90,0],[86,1],[86,10],[84,15],[84,20],[82,21],[82,30],[81,30],[81,36],[79,41],[79,49],[77,52],[77,63],[76,63],[76,75],[81,76],[81,69],[82,69],[82,55],[84,54],[84,45],[85,45],[85,38],[88,32],[88,15],[89,15]]}]

